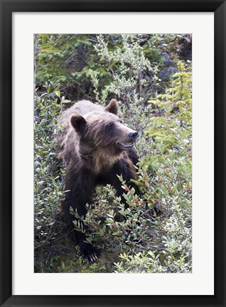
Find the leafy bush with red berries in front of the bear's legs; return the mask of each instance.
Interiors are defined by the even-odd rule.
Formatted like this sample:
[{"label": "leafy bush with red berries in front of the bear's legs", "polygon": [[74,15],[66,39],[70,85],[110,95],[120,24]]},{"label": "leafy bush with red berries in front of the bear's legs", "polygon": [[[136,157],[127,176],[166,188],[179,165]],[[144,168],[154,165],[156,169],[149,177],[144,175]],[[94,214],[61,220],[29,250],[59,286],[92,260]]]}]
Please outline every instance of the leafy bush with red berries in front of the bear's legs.
[{"label": "leafy bush with red berries in front of the bear's legs", "polygon": [[[140,177],[138,183],[149,184],[145,171],[141,172]],[[144,198],[139,198],[134,188],[126,185],[122,176],[119,176],[119,180],[125,191],[123,198],[127,205],[122,203],[121,198],[115,196],[115,190],[107,185],[101,203],[95,204],[94,207],[87,204],[88,213],[85,217],[80,217],[70,208],[71,214],[79,218],[74,221],[75,229],[85,233],[86,242],[100,249],[112,250],[114,253],[142,251],[150,241],[151,244],[154,242],[154,233],[151,233],[151,223],[156,215],[156,212],[151,210],[154,208],[154,202],[148,193],[144,194]],[[147,197],[149,201],[146,201]],[[88,226],[91,232],[87,232],[84,225]]]}]

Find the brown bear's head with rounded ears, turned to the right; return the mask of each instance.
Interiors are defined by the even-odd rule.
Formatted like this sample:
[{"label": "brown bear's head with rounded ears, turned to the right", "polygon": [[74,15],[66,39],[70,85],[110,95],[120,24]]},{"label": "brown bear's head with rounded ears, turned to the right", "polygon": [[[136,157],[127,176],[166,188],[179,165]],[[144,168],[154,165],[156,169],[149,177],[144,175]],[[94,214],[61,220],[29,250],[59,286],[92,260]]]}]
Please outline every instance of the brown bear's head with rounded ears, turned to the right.
[{"label": "brown bear's head with rounded ears, turned to the right", "polygon": [[138,134],[122,123],[118,110],[117,100],[112,99],[102,111],[72,114],[70,123],[80,137],[82,157],[111,160],[133,148]]}]

